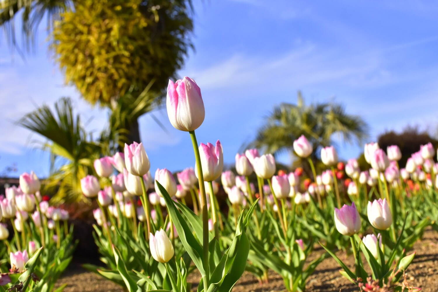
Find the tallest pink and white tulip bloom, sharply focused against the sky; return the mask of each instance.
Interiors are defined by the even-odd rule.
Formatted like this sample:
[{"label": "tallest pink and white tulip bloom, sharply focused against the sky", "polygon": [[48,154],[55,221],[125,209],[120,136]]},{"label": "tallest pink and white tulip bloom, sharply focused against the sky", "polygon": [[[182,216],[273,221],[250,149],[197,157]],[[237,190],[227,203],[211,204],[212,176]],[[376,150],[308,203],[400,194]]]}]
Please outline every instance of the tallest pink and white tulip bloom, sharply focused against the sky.
[{"label": "tallest pink and white tulip bloom, sharply focused against the sky", "polygon": [[189,78],[169,80],[166,99],[167,115],[172,126],[180,131],[194,131],[201,126],[205,118],[201,89]]}]

